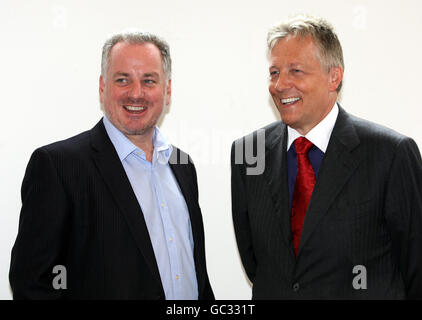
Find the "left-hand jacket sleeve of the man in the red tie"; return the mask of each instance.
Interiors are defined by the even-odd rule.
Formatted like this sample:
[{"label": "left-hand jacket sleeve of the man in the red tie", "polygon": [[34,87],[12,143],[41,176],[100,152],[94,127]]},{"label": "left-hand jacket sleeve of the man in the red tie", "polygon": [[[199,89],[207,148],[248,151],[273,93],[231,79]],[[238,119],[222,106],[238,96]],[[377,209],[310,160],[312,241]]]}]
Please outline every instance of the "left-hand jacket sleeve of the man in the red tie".
[{"label": "left-hand jacket sleeve of the man in the red tie", "polygon": [[243,267],[251,282],[255,278],[256,259],[252,245],[252,234],[248,216],[247,193],[244,176],[245,165],[235,163],[235,143],[231,150],[231,191],[233,226],[236,235],[237,247]]}]

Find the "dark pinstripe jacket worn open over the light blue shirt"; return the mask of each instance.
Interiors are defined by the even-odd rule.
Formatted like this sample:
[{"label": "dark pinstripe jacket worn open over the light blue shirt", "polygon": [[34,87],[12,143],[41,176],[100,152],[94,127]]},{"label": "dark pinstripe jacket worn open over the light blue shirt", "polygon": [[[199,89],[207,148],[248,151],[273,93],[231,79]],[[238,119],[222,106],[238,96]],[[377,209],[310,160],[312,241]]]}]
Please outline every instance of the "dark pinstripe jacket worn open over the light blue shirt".
[{"label": "dark pinstripe jacket worn open over the light blue shirt", "polygon": [[[195,167],[190,159],[170,165],[189,209],[199,299],[213,299]],[[141,208],[102,120],[33,153],[22,202],[9,275],[15,299],[165,298]],[[52,286],[55,265],[66,267],[66,290]]]}]

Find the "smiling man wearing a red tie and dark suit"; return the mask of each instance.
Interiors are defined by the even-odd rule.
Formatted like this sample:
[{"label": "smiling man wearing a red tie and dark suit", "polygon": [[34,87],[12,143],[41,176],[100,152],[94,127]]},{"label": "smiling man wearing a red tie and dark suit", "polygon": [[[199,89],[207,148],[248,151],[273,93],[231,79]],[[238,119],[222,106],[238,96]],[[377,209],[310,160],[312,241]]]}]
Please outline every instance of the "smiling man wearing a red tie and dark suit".
[{"label": "smiling man wearing a red tie and dark suit", "polygon": [[270,30],[268,46],[282,121],[232,148],[233,221],[253,298],[422,298],[415,142],[338,105],[342,49],[326,21],[296,16]]}]

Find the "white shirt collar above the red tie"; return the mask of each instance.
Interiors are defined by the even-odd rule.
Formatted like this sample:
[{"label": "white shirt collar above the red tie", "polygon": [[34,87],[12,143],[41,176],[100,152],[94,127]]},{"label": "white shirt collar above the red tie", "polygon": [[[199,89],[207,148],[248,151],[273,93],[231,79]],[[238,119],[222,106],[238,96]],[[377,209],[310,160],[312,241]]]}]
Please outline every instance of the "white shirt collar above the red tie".
[{"label": "white shirt collar above the red tie", "polygon": [[[328,142],[330,141],[331,133],[333,132],[333,128],[337,120],[338,112],[339,109],[336,102],[325,118],[304,136],[324,153],[327,150]],[[289,126],[287,126],[287,136],[287,150],[290,149],[290,146],[296,138],[303,137],[302,134]]]}]

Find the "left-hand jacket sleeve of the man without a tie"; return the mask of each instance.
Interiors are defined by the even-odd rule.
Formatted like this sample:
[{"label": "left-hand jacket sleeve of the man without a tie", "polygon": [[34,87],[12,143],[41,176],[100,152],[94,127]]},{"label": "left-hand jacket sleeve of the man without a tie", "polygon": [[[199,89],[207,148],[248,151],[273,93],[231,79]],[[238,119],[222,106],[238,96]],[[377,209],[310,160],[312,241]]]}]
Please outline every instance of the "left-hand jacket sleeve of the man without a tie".
[{"label": "left-hand jacket sleeve of the man without a tie", "polygon": [[37,149],[32,154],[21,195],[19,230],[9,273],[13,298],[60,299],[64,290],[54,289],[53,280],[59,272],[53,273],[53,268],[65,266],[63,246],[68,205],[47,150]]}]

